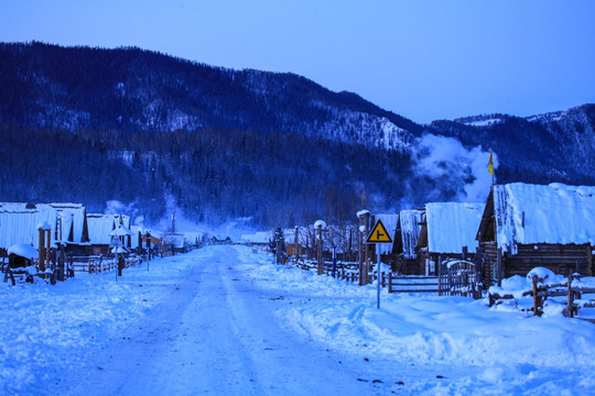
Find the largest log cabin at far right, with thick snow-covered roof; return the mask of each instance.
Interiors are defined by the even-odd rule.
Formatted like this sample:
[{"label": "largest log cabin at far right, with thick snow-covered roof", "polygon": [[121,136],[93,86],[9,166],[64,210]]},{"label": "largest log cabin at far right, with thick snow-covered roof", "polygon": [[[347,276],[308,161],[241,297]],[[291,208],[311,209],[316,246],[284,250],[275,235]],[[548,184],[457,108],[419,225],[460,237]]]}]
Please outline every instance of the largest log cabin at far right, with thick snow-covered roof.
[{"label": "largest log cabin at far right, with thick snow-covered roof", "polygon": [[562,275],[591,276],[595,187],[496,185],[488,196],[477,240],[486,287],[504,277],[526,276],[537,266]]}]

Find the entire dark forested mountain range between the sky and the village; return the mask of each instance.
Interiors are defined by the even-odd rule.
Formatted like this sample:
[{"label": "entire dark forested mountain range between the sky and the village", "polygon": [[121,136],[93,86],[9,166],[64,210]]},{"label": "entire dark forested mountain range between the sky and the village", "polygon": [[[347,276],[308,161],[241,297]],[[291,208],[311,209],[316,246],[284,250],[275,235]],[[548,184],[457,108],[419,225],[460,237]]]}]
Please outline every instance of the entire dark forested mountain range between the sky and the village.
[{"label": "entire dark forested mountain range between the sky and the village", "polygon": [[421,125],[292,74],[0,43],[0,200],[101,211],[115,199],[151,220],[175,201],[210,223],[350,221],[364,190],[372,210],[470,199],[490,147],[501,183],[595,184],[594,113]]}]

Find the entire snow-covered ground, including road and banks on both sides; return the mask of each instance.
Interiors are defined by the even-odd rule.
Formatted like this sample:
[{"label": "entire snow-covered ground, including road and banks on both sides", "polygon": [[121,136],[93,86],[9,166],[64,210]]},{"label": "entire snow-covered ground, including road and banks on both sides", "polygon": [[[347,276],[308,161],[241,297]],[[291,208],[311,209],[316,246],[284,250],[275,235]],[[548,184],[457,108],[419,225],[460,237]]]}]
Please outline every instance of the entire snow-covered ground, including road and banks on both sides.
[{"label": "entire snow-covered ground, including road and banks on both sides", "polygon": [[0,286],[0,394],[595,393],[595,324],[381,294],[209,246]]}]

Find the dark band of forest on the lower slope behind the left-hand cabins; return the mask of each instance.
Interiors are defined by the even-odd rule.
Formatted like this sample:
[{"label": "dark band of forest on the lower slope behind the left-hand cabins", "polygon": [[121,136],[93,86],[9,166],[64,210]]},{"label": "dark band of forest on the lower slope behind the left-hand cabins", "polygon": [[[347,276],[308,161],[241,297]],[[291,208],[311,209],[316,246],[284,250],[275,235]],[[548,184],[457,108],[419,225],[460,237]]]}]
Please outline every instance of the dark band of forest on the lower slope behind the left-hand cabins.
[{"label": "dark band of forest on the lower slope behind the left-hand cabins", "polygon": [[102,211],[115,199],[151,220],[166,215],[172,196],[195,221],[252,217],[270,227],[324,217],[345,223],[361,208],[364,190],[367,204],[394,206],[411,162],[385,150],[256,131],[148,135],[2,124],[0,134],[1,200],[75,200]]}]

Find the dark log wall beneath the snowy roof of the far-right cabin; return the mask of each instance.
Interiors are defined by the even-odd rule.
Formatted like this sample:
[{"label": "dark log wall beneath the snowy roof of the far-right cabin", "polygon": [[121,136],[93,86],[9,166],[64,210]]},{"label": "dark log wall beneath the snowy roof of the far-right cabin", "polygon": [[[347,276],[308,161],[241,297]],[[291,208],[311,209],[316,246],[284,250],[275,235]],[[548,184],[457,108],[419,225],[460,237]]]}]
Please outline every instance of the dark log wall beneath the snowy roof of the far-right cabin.
[{"label": "dark log wall beneath the snowy roof of the far-right cabin", "polygon": [[518,245],[518,254],[505,254],[502,266],[505,277],[526,276],[537,266],[549,268],[560,275],[578,272],[583,276],[592,276],[593,255],[589,244]]}]

